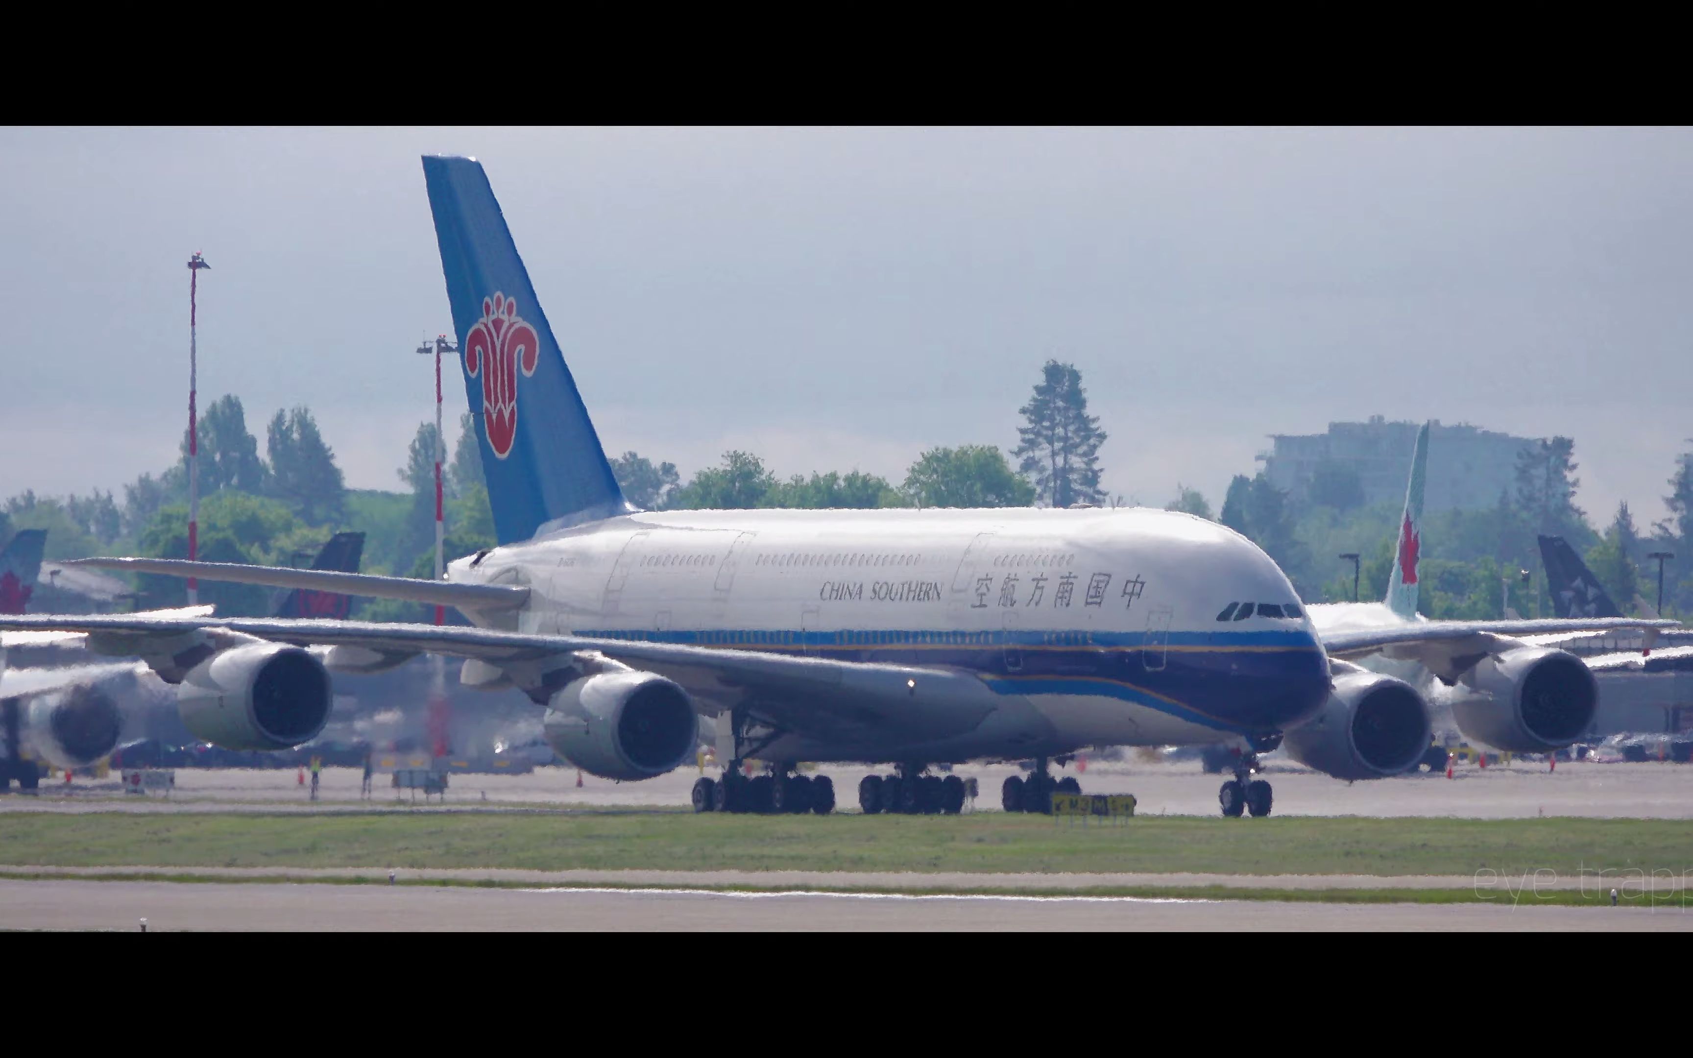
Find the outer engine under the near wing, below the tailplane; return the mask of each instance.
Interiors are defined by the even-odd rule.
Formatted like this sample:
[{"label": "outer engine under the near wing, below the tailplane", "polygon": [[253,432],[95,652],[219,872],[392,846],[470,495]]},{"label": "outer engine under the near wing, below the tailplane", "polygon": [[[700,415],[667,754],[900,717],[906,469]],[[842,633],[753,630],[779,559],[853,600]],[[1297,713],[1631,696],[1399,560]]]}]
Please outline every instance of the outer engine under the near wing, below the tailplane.
[{"label": "outer engine under the near wing, below the tailplane", "polygon": [[328,670],[300,647],[252,643],[213,655],[176,689],[183,726],[225,750],[312,741],[334,704]]}]

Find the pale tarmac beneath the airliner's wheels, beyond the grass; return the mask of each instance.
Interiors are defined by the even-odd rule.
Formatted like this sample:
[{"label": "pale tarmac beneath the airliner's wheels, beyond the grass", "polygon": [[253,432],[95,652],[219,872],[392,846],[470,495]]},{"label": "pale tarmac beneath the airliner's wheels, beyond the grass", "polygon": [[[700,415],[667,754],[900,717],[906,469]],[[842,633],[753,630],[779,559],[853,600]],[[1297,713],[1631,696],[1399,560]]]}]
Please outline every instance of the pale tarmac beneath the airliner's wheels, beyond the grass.
[{"label": "pale tarmac beneath the airliner's wheels, beyond the grass", "polygon": [[[858,779],[870,769],[826,767],[816,774],[835,782],[840,811],[857,809]],[[708,774],[716,774],[708,769]],[[1004,765],[970,765],[957,774],[973,777],[979,797],[972,811],[999,811],[999,787],[1017,774]],[[1073,775],[1075,769],[1063,774]],[[1639,819],[1693,819],[1693,765],[1678,763],[1512,763],[1476,769],[1458,765],[1454,777],[1405,775],[1348,784],[1293,763],[1271,763],[1265,772],[1275,785],[1278,816],[1461,816],[1507,819],[1534,816],[1600,816]],[[593,775],[577,787],[574,769],[547,767],[528,775],[452,775],[445,799],[425,802],[400,797],[388,775],[376,777],[374,796],[359,794],[356,769],[325,769],[320,799],[308,799],[293,770],[179,769],[176,791],[163,796],[125,796],[113,779],[71,784],[46,782],[36,797],[0,797],[0,811],[547,811],[559,807],[686,807],[696,769],[679,769],[645,782],[611,782]],[[1197,762],[1094,763],[1078,775],[1084,792],[1134,794],[1139,814],[1217,814],[1221,775],[1207,775]]]}]

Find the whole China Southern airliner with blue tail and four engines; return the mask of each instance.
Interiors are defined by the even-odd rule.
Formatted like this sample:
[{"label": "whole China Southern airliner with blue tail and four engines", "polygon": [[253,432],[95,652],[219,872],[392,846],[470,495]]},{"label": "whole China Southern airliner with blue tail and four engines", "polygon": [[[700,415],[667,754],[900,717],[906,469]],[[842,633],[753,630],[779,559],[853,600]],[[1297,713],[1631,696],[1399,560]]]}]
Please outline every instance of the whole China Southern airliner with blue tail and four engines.
[{"label": "whole China Southern airliner with blue tail and four engines", "polygon": [[[1048,807],[1048,760],[1090,745],[1244,736],[1332,775],[1412,767],[1427,709],[1407,684],[1331,660],[1385,647],[1441,652],[1475,625],[1321,636],[1282,570],[1231,530],[1155,510],[638,511],[599,445],[481,164],[425,157],[447,296],[499,547],[445,581],[93,559],[203,579],[459,608],[476,628],[134,616],[0,618],[74,630],[179,684],[183,721],[232,748],[313,738],[330,670],[418,652],[466,658],[460,679],[516,686],[549,741],[596,775],[648,779],[689,760],[708,726],[721,779],[696,809],[816,811],[828,779],[797,762],[892,763],[858,787],[867,813],[951,811],[963,782],[926,769],[1034,760],[1007,809]],[[1641,626],[1524,621],[1522,630]],[[1497,625],[1492,630],[1498,631]],[[1512,650],[1508,645],[1498,647]],[[1556,653],[1556,652],[1554,652]],[[1591,684],[1536,697],[1544,658],[1500,667],[1493,709],[1541,741],[1580,731]],[[1586,692],[1586,696],[1583,696]],[[701,723],[704,718],[704,725]],[[770,775],[745,779],[757,758]],[[1268,814],[1243,755],[1224,814]],[[1070,782],[1070,780],[1067,780]]]}]

